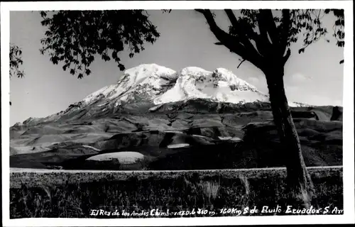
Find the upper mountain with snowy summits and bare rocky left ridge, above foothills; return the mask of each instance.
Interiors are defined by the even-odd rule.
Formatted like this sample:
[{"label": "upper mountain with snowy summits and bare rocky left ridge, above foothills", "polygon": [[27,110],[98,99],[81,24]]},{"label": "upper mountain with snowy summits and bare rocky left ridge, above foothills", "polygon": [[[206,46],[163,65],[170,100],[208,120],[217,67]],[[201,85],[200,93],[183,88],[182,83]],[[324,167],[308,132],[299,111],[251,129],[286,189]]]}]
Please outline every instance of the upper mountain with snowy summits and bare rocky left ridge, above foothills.
[{"label": "upper mountain with snowy summits and bare rocky left ridge, above foothills", "polygon": [[[160,65],[145,64],[126,70],[116,84],[89,94],[65,111],[45,118],[28,118],[23,124],[100,118],[117,113],[127,104],[131,104],[131,109],[143,105],[148,110],[161,104],[196,99],[246,104],[268,102],[268,95],[224,68],[209,72],[200,67],[185,67],[175,72]],[[290,106],[301,104],[290,103]]]}]

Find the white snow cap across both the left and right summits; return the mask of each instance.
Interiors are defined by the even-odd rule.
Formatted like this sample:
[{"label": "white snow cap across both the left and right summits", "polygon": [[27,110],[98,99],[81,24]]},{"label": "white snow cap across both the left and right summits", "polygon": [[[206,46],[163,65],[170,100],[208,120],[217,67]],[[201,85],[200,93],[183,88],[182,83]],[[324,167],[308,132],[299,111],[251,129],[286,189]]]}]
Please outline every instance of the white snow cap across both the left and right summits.
[{"label": "white snow cap across both the left and right summits", "polygon": [[157,64],[142,64],[126,70],[116,84],[89,94],[77,107],[97,104],[116,108],[127,102],[164,104],[188,99],[244,103],[268,101],[268,96],[224,68],[210,72],[185,67],[175,72]]}]

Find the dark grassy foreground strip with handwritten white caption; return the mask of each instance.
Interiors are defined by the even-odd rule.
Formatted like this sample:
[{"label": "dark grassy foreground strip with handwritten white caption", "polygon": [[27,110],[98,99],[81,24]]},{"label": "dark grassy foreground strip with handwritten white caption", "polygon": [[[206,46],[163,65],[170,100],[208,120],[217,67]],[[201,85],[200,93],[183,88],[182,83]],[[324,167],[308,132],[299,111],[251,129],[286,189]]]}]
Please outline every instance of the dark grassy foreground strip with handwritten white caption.
[{"label": "dark grassy foreground strip with handwritten white caption", "polygon": [[302,195],[297,203],[287,204],[284,169],[13,172],[10,214],[11,218],[342,214],[342,168],[309,171],[316,191],[310,204],[304,203]]}]

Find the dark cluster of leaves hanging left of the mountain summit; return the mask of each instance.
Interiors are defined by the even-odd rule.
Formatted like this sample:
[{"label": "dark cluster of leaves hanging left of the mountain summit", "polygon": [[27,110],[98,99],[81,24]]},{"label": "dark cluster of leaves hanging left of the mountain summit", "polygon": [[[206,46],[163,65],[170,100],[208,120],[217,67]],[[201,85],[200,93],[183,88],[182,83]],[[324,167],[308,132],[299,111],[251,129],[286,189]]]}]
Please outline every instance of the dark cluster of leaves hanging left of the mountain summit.
[{"label": "dark cluster of leaves hanging left of the mountain summit", "polygon": [[40,52],[48,52],[53,64],[62,62],[62,69],[78,78],[91,73],[89,66],[97,54],[104,61],[112,58],[125,70],[118,56],[125,45],[133,57],[160,35],[144,10],[58,11],[51,15],[40,11],[40,15],[41,24],[48,28],[40,40]]}]

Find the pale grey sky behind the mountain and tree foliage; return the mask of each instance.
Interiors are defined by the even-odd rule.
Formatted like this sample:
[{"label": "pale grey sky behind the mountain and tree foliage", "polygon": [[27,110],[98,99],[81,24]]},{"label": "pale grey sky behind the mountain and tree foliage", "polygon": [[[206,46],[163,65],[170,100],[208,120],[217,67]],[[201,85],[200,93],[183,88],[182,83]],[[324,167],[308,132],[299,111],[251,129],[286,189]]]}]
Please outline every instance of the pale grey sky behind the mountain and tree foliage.
[{"label": "pale grey sky behind the mountain and tree foliage", "polygon": [[[266,79],[261,70],[244,62],[238,69],[239,56],[224,46],[214,45],[214,37],[204,17],[192,10],[173,10],[171,13],[148,11],[150,20],[158,27],[160,38],[153,45],[146,44],[143,52],[129,58],[128,52],[120,52],[126,69],[141,64],[155,63],[178,71],[195,66],[212,71],[218,67],[231,70],[237,77],[253,84],[261,92],[268,93]],[[229,21],[223,11],[216,12],[216,21],[228,29]],[[45,117],[64,111],[70,104],[109,84],[115,84],[123,72],[115,62],[97,58],[91,65],[92,74],[77,79],[53,65],[48,55],[41,55],[40,39],[46,28],[40,25],[38,11],[12,11],[10,13],[10,42],[23,51],[25,77],[10,81],[10,125],[29,117]],[[324,25],[332,31],[334,19],[324,17]],[[298,54],[301,43],[291,46],[292,55],[285,65],[285,91],[289,101],[312,105],[342,106],[344,49],[319,40],[304,53]]]}]

